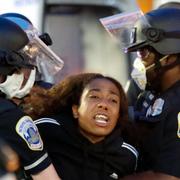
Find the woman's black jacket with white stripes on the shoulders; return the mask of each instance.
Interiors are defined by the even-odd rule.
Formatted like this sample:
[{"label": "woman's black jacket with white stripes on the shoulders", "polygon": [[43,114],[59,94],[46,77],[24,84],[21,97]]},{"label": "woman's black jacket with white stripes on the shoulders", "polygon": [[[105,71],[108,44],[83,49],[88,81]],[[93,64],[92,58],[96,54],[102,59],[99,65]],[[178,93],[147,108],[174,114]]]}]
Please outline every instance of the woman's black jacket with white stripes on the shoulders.
[{"label": "woman's black jacket with white stripes on the shoulders", "polygon": [[135,171],[138,153],[123,141],[119,128],[92,144],[79,133],[76,121],[65,113],[34,121],[62,179],[110,180]]}]

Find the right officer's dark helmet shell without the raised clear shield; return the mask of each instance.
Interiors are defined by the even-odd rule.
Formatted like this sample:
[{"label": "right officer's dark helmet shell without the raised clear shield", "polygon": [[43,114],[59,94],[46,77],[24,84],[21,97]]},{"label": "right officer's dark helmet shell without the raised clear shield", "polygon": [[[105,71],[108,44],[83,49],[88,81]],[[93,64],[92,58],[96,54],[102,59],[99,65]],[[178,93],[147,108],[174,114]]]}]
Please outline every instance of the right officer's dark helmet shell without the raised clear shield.
[{"label": "right officer's dark helmet shell without the raised clear shield", "polygon": [[162,8],[145,14],[148,25],[141,18],[134,26],[127,52],[145,46],[153,47],[162,55],[180,53],[180,9]]}]

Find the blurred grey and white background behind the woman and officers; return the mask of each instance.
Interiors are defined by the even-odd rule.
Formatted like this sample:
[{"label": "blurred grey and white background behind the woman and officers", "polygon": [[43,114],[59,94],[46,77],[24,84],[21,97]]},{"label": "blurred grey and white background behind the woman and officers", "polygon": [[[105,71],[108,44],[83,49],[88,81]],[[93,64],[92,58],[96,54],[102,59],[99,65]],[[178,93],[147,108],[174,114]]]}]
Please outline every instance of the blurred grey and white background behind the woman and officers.
[{"label": "blurred grey and white background behind the woman and officers", "polygon": [[[167,0],[0,0],[0,13],[27,16],[40,32],[48,32],[52,49],[65,66],[54,82],[69,74],[100,72],[118,79],[125,87],[133,55],[126,55],[105,31],[99,19],[117,13],[147,12]],[[178,1],[180,2],[180,1]]]}]

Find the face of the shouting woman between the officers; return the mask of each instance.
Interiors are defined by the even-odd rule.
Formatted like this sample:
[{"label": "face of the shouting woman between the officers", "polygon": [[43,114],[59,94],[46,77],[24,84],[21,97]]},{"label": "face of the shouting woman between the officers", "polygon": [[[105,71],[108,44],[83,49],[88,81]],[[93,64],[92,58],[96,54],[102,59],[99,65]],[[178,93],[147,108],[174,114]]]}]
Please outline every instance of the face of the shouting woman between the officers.
[{"label": "face of the shouting woman between the officers", "polygon": [[92,143],[99,142],[112,132],[120,111],[120,92],[107,79],[95,79],[84,89],[80,105],[73,106],[81,134]]}]

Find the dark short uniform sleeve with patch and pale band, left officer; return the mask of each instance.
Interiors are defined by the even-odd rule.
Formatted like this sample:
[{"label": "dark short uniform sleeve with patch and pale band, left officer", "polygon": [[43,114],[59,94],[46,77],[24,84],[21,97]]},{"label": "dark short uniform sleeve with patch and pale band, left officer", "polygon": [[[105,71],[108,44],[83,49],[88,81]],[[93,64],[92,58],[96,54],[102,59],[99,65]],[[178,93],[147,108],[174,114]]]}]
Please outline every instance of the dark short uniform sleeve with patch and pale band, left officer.
[{"label": "dark short uniform sleeve with patch and pale band, left officer", "polygon": [[27,174],[36,174],[51,163],[37,127],[10,100],[0,97],[0,137],[20,157],[20,163]]}]

